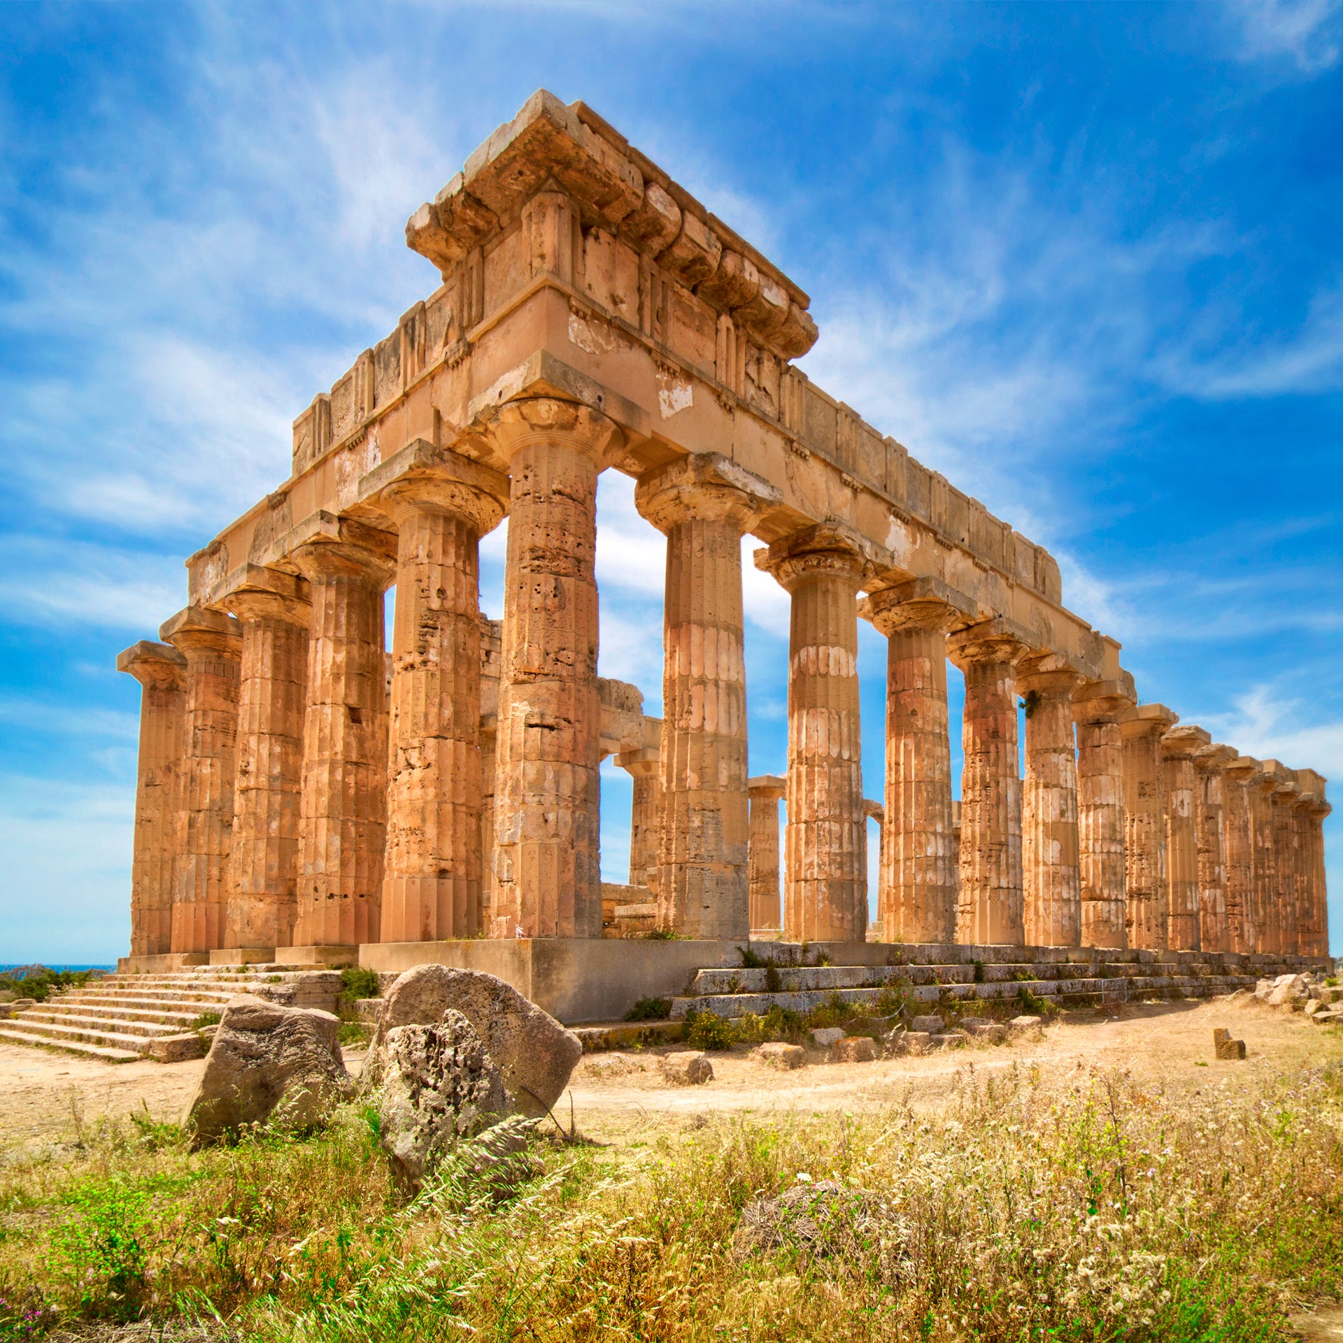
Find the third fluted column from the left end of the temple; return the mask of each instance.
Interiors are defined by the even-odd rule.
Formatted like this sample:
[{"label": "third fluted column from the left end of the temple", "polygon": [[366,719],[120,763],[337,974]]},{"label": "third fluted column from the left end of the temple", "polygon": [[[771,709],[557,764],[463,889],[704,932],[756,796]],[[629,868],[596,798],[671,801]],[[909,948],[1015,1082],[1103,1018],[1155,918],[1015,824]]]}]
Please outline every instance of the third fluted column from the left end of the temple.
[{"label": "third fluted column from the left end of the temple", "polygon": [[254,564],[222,604],[243,631],[224,945],[274,952],[297,913],[312,604],[302,579]]}]

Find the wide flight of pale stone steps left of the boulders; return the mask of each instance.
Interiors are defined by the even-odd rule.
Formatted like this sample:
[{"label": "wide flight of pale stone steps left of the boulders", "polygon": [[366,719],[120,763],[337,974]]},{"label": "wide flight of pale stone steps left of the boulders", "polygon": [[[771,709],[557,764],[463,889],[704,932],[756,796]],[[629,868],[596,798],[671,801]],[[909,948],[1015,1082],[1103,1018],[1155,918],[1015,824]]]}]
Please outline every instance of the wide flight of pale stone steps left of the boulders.
[{"label": "wide flight of pale stone steps left of the boulders", "polygon": [[[338,971],[312,966],[201,966],[163,975],[105,975],[0,1021],[0,1041],[39,1045],[129,1064],[154,1039],[184,1035],[200,1019],[218,1019],[235,994],[257,994],[298,1007],[334,1006]],[[13,1006],[12,1003],[9,1005]]]}]

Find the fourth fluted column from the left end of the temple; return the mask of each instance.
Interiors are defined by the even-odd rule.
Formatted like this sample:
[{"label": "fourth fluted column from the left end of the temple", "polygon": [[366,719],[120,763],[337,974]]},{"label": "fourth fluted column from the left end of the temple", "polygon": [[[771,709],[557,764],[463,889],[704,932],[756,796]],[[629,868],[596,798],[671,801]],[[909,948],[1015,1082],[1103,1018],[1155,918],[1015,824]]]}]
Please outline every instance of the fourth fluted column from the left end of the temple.
[{"label": "fourth fluted column from the left end of the temple", "polygon": [[379,941],[387,841],[385,532],[322,520],[291,556],[313,618],[304,712],[295,947]]}]

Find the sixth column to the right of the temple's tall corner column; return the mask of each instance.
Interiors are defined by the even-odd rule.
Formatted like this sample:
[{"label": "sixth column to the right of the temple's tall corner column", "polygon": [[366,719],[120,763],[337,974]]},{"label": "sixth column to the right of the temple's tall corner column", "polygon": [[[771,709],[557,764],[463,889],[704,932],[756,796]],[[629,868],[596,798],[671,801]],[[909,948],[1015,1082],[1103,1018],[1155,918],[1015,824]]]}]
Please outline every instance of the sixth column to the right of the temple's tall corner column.
[{"label": "sixth column to the right of the temple's tall corner column", "polygon": [[1088,681],[1073,693],[1077,725],[1077,861],[1081,944],[1128,945],[1124,898],[1124,733],[1133,681]]}]

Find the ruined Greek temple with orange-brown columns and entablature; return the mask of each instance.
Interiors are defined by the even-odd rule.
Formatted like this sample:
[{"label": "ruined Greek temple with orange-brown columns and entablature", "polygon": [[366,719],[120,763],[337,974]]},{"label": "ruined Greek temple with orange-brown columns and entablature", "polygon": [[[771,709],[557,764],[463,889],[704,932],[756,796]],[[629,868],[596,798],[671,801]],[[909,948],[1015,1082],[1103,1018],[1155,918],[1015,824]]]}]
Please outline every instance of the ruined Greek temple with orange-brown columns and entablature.
[{"label": "ruined Greek temple with orange-brown columns and entablature", "polygon": [[[124,970],[441,960],[539,992],[654,991],[749,939],[1327,956],[1326,780],[1140,702],[1049,553],[800,372],[807,294],[590,107],[535,94],[406,238],[436,287],[118,658],[142,686]],[[661,720],[598,677],[604,470],[666,537]],[[791,600],[782,776],[748,776],[747,535]],[[880,800],[860,620],[888,642]],[[608,756],[634,803],[603,888]]]}]

